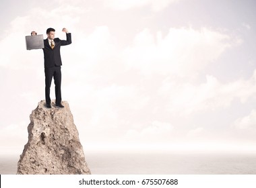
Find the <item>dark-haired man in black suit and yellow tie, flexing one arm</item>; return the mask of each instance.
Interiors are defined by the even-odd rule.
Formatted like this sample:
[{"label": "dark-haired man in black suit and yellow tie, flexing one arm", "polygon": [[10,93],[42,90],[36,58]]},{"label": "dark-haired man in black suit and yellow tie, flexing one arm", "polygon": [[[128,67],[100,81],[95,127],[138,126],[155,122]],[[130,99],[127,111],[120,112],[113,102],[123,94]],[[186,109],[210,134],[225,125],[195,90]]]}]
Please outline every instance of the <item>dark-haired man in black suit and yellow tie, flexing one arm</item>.
[{"label": "dark-haired man in black suit and yellow tie, flexing one arm", "polygon": [[55,29],[48,28],[46,30],[47,38],[44,40],[44,73],[45,73],[45,99],[46,107],[51,108],[50,87],[52,79],[55,82],[55,105],[64,107],[61,104],[61,46],[71,44],[71,33],[63,28],[66,33],[67,40],[55,38]]}]

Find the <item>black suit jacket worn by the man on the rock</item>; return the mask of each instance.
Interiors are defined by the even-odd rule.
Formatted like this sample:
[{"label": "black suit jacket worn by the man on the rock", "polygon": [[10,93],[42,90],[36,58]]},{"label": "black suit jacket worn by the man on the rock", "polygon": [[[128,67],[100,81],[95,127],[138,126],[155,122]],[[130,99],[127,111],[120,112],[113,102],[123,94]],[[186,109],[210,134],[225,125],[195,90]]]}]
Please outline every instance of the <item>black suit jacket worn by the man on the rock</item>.
[{"label": "black suit jacket worn by the man on the rock", "polygon": [[49,68],[53,66],[61,66],[61,46],[71,44],[71,34],[66,34],[67,40],[60,40],[59,38],[55,38],[55,47],[52,49],[48,38],[44,40],[44,68]]}]

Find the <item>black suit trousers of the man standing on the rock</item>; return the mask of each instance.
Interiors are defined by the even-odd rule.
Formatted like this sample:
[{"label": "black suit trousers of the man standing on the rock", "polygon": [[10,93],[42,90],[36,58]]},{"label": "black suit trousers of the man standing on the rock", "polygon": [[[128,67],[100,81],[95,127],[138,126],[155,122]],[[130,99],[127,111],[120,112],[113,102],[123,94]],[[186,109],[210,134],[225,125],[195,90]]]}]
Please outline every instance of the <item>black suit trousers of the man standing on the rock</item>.
[{"label": "black suit trousers of the man standing on the rock", "polygon": [[45,100],[47,104],[51,104],[50,88],[52,79],[55,83],[56,104],[61,103],[61,66],[53,66],[44,68],[45,74]]}]

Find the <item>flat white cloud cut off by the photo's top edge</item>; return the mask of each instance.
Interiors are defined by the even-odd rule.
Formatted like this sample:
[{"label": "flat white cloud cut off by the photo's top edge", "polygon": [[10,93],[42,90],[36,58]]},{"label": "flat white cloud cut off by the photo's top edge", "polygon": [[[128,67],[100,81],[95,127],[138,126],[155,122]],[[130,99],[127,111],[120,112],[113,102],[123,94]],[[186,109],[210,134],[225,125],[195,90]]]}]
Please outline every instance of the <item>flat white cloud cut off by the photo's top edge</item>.
[{"label": "flat white cloud cut off by the photo's top edge", "polygon": [[104,1],[104,5],[106,7],[110,7],[112,9],[116,10],[127,10],[132,9],[135,7],[144,7],[144,6],[150,6],[152,11],[161,11],[162,9],[168,7],[171,3],[176,2],[177,0],[160,0],[160,1],[154,1],[154,0],[107,0]]}]

